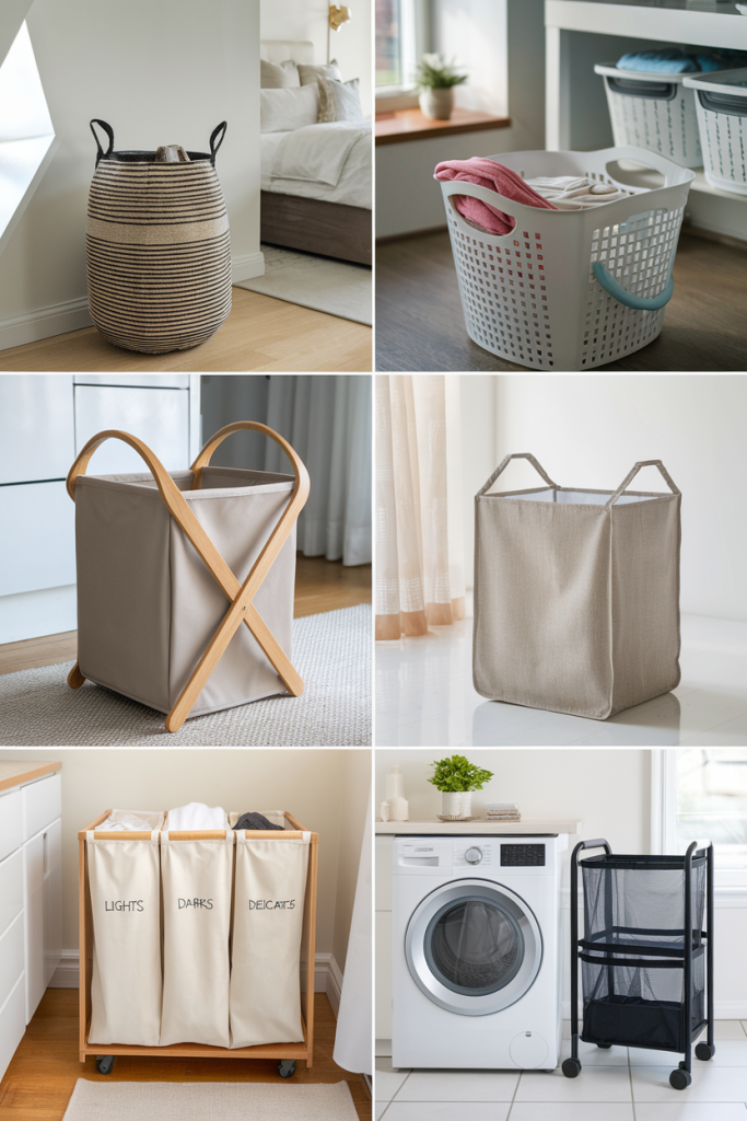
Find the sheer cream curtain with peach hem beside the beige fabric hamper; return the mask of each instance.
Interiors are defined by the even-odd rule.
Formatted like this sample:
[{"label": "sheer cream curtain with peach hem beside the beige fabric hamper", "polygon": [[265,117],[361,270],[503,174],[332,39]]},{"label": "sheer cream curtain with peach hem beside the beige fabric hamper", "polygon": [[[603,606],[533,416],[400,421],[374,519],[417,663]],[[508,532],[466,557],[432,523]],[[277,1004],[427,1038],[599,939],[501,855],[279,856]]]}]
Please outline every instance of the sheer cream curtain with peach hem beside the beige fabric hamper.
[{"label": "sheer cream curtain with peach hem beside the beige fabric hamper", "polygon": [[465,615],[457,374],[376,377],[376,638]]}]

